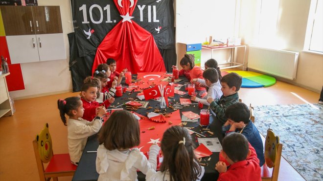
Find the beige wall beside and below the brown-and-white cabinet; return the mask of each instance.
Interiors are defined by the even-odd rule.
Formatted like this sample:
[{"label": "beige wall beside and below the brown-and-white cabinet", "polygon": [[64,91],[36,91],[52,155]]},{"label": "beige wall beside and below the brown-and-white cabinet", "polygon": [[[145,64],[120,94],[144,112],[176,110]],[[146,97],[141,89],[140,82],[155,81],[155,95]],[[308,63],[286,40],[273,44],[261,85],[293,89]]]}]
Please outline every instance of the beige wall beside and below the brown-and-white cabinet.
[{"label": "beige wall beside and below the brown-and-white cabinet", "polygon": [[69,0],[38,0],[38,5],[60,6],[67,59],[22,63],[25,89],[10,92],[10,96],[16,99],[72,90],[69,71],[69,40],[67,36],[73,31]]}]

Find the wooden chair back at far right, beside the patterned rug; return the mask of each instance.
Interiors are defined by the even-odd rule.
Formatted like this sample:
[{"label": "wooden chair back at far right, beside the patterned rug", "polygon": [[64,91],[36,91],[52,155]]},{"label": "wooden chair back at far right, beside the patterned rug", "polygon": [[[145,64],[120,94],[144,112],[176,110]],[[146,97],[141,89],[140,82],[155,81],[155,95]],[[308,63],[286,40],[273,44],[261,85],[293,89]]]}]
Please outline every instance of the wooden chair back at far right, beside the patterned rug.
[{"label": "wooden chair back at far right, beside the patterned rug", "polygon": [[262,181],[278,180],[281,150],[282,144],[279,143],[279,137],[275,136],[271,129],[268,129],[265,141],[265,164],[261,167]]}]

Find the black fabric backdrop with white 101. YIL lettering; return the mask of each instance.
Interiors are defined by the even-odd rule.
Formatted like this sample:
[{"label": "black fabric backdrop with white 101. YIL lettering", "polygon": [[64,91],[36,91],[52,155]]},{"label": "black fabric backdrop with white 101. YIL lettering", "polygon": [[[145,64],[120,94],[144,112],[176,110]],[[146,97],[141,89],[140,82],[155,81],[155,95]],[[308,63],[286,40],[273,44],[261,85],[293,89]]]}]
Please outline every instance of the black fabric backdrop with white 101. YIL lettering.
[{"label": "black fabric backdrop with white 101. YIL lettering", "polygon": [[[131,13],[128,14],[132,17],[130,21],[138,24],[139,28],[153,37],[166,71],[170,71],[168,67],[176,63],[173,0],[71,0],[71,7],[75,32],[73,46],[77,48],[70,50],[76,50],[79,57],[90,61],[84,63],[86,70],[82,68],[83,73],[87,75],[80,76],[85,78],[92,75],[91,66],[97,48],[107,34],[124,20],[121,17],[126,15],[126,12],[123,12],[124,7],[131,9]],[[109,45],[115,42],[106,43]],[[128,44],[124,48],[129,46]],[[75,66],[80,63],[75,62],[75,59],[70,60],[72,75],[74,70],[80,70],[80,67]],[[72,80],[74,81],[73,76]],[[76,91],[74,87],[73,91]]]}]

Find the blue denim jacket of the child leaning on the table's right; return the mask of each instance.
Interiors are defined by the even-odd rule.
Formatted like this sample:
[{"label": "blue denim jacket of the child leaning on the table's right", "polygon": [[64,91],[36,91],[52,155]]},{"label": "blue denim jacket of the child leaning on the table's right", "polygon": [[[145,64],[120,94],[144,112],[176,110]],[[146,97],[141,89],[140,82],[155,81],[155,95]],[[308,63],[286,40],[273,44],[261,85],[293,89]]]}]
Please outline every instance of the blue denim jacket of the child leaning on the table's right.
[{"label": "blue denim jacket of the child leaning on the table's right", "polygon": [[[229,131],[230,126],[231,125],[222,126],[222,132],[226,133],[227,131]],[[238,129],[236,129],[235,132],[238,132]],[[233,131],[228,132],[227,135],[231,133],[234,133],[234,132]],[[259,165],[262,166],[265,163],[264,146],[263,146],[259,131],[254,126],[254,123],[250,121],[243,129],[241,134],[243,134],[250,142],[250,144],[254,147],[257,154],[257,158],[260,161]]]}]

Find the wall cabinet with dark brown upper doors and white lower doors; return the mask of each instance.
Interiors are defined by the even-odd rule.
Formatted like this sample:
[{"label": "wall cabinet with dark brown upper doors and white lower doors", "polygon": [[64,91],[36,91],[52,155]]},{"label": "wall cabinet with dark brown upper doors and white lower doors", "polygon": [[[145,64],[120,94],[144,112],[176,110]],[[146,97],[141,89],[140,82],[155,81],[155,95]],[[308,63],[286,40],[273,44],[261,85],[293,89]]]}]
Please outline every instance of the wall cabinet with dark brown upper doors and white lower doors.
[{"label": "wall cabinet with dark brown upper doors and white lower doors", "polygon": [[11,63],[66,59],[59,6],[0,6]]}]

